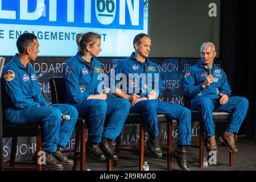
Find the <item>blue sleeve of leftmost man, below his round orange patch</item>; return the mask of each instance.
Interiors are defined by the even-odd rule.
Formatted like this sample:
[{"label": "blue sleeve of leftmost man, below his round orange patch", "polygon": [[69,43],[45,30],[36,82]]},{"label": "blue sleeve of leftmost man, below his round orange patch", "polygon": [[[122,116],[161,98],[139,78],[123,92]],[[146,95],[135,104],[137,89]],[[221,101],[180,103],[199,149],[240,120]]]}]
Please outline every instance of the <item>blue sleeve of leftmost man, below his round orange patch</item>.
[{"label": "blue sleeve of leftmost man, below his round orange patch", "polygon": [[[14,72],[15,73],[15,72]],[[38,102],[34,102],[33,98],[28,98],[23,92],[20,85],[20,79],[18,73],[15,73],[13,80],[3,80],[5,85],[6,94],[10,97],[11,103],[18,109],[23,109],[32,106],[40,105]]]}]

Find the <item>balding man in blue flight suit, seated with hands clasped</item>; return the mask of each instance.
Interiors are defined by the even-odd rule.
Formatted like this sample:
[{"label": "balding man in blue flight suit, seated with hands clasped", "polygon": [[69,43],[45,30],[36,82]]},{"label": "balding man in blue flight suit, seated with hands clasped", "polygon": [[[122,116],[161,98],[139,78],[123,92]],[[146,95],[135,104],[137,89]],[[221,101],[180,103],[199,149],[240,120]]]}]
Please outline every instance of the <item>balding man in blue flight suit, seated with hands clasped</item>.
[{"label": "balding man in blue flight suit, seated with hands clasped", "polygon": [[142,114],[149,134],[147,145],[156,158],[162,158],[156,114],[179,119],[178,146],[172,155],[180,169],[189,170],[187,152],[191,144],[191,111],[178,104],[156,100],[162,93],[163,82],[158,66],[147,58],[151,39],[146,34],[138,34],[133,46],[135,52],[114,65],[111,73],[111,82],[114,83],[110,83],[111,89],[116,96],[131,102],[130,113]]}]

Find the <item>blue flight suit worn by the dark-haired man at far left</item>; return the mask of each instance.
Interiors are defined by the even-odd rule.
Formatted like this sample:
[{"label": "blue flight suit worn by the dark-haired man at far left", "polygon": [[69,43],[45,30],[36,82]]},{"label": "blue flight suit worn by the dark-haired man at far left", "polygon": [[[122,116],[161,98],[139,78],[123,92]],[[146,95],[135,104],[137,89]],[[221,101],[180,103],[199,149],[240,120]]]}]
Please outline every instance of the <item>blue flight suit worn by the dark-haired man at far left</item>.
[{"label": "blue flight suit worn by the dark-haired man at far left", "polygon": [[[7,123],[41,123],[42,147],[46,152],[66,146],[77,121],[76,108],[67,104],[46,106],[51,103],[44,100],[34,69],[31,64],[25,68],[18,54],[3,68],[2,89]],[[61,114],[70,115],[70,120],[61,122]]]}]

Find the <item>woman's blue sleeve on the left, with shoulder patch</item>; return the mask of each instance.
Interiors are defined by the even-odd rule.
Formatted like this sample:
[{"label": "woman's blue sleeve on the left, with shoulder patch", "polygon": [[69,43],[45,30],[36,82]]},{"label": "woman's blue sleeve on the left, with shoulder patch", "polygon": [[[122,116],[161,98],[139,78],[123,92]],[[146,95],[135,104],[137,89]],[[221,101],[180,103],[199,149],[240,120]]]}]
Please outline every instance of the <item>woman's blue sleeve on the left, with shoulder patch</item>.
[{"label": "woman's blue sleeve on the left, with shoulder patch", "polygon": [[[70,65],[67,65],[67,67],[64,68],[65,70],[63,71],[63,77],[65,81],[65,88],[69,96],[72,96],[72,99],[75,102],[87,100],[90,94],[81,93],[79,75],[77,73],[75,66],[72,67]],[[67,72],[67,69],[70,70]]]}]

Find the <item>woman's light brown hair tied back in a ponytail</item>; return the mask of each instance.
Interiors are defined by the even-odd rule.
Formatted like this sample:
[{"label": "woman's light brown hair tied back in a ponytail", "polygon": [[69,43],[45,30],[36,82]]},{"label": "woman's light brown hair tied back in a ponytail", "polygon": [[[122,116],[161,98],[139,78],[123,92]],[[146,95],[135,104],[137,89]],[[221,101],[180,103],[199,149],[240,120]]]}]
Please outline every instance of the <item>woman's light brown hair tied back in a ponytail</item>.
[{"label": "woman's light brown hair tied back in a ponytail", "polygon": [[85,34],[76,35],[76,43],[79,46],[80,55],[84,56],[86,51],[86,46],[92,46],[96,40],[101,39],[99,34],[94,32],[87,32]]}]

